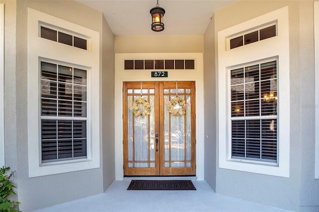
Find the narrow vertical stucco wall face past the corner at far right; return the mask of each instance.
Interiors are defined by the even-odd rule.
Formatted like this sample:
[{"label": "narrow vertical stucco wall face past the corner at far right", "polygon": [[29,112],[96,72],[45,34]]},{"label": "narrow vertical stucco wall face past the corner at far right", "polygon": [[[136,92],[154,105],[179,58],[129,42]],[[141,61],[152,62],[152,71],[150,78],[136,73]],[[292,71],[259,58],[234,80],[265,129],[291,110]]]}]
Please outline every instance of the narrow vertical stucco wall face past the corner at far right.
[{"label": "narrow vertical stucco wall face past the corner at far right", "polygon": [[[319,179],[315,170],[315,55],[314,55],[314,2],[299,5],[300,20],[300,105],[301,105],[301,210],[319,211]],[[319,11],[316,11],[317,13]],[[318,26],[317,26],[318,27]],[[318,37],[317,37],[318,39]],[[317,82],[318,83],[318,82]],[[318,95],[318,94],[317,94]],[[319,152],[317,152],[319,154]]]}]

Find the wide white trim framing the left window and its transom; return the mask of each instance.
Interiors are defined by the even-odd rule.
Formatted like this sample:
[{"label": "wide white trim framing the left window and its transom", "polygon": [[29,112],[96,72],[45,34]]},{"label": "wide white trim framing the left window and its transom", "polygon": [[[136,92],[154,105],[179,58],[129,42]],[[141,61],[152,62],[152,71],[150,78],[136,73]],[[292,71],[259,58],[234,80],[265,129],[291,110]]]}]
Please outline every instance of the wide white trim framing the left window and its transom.
[{"label": "wide white trim framing the left window and its transom", "polygon": [[[39,37],[39,22],[62,27],[89,37],[89,50]],[[100,33],[28,8],[28,166],[29,177],[100,167]],[[43,48],[45,47],[45,48]],[[48,51],[50,50],[50,51]],[[87,70],[87,159],[41,163],[39,61],[76,64]]]}]

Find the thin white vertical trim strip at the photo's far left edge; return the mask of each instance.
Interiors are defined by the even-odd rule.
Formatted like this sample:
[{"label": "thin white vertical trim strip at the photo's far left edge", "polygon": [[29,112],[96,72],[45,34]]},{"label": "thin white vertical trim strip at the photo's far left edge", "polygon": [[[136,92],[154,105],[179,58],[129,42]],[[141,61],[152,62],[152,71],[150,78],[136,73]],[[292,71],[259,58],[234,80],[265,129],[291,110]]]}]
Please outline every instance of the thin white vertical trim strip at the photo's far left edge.
[{"label": "thin white vertical trim strip at the photo's far left edge", "polygon": [[4,4],[0,3],[0,167],[4,164]]}]

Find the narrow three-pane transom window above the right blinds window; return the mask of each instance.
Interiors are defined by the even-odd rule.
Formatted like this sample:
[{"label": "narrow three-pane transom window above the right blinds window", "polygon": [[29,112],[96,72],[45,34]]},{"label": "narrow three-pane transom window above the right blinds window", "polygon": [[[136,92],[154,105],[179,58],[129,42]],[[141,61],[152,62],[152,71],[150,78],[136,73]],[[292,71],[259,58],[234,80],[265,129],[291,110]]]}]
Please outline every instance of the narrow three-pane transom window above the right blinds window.
[{"label": "narrow three-pane transom window above the right blinds window", "polygon": [[264,40],[270,37],[276,36],[276,24],[260,28],[253,32],[244,33],[240,36],[232,38],[229,40],[230,42],[230,49],[237,48],[239,46],[247,45],[250,43],[254,43],[260,40]]}]

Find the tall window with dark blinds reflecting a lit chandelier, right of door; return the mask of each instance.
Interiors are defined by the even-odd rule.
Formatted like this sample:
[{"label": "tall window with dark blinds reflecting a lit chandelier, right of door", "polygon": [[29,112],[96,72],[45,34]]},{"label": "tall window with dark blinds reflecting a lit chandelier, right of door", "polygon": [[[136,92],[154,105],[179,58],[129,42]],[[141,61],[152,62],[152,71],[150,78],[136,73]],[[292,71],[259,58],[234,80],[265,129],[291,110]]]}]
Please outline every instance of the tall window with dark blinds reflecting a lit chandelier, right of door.
[{"label": "tall window with dark blinds reflecting a lit chandelier, right of door", "polygon": [[277,61],[230,70],[231,157],[277,162]]}]

